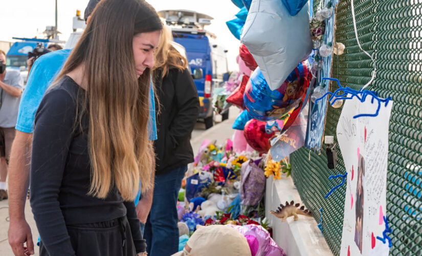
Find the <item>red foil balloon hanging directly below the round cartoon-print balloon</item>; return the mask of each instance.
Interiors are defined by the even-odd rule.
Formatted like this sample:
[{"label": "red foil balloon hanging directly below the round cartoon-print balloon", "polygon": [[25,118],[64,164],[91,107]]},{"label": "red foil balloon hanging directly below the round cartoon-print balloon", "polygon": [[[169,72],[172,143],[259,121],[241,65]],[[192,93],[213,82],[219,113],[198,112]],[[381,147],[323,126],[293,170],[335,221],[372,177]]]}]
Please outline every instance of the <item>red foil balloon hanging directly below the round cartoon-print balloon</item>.
[{"label": "red foil balloon hanging directly below the round cartoon-print balloon", "polygon": [[270,139],[274,136],[274,132],[271,134],[265,132],[265,124],[265,121],[251,119],[246,123],[245,129],[243,129],[246,141],[259,153],[266,153],[270,150]]}]

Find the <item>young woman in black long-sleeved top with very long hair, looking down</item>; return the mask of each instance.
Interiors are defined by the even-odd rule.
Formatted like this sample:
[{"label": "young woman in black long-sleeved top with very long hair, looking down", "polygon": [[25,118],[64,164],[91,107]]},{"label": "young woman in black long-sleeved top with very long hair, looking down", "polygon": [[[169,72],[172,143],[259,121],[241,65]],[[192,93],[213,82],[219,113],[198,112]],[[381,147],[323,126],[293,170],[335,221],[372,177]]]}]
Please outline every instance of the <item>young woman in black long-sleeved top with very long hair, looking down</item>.
[{"label": "young woman in black long-sleeved top with very long hair, looking down", "polygon": [[[162,29],[143,0],[102,0],[35,117],[40,255],[144,255],[134,198],[153,186],[150,69]],[[145,252],[145,253],[144,253]]]}]

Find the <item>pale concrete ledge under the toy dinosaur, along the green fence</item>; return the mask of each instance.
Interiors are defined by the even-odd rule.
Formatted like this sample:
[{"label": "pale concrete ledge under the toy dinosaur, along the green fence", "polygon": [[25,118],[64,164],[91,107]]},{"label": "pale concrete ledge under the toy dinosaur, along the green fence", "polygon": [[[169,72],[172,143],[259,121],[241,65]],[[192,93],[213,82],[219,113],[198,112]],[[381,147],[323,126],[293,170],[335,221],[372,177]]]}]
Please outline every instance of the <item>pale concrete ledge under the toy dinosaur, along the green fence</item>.
[{"label": "pale concrete ledge under the toy dinosaur, along the green fence", "polygon": [[265,216],[273,227],[273,239],[289,256],[332,255],[313,218],[299,215],[297,221],[289,217],[285,222],[281,222],[268,212],[277,209],[280,203],[292,200],[303,204],[291,177],[286,178],[283,175],[280,180],[266,180]]}]

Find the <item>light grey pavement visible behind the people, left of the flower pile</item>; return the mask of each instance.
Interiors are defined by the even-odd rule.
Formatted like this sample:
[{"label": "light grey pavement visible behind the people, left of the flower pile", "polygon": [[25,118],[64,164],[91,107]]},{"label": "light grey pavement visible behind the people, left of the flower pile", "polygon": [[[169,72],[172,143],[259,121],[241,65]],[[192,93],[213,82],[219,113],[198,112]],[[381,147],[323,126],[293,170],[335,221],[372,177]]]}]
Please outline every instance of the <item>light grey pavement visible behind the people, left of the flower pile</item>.
[{"label": "light grey pavement visible behind the people, left of the flower pile", "polygon": [[[199,146],[201,146],[204,139],[217,140],[217,144],[223,143],[226,139],[231,139],[233,135],[232,125],[239,110],[235,107],[230,108],[229,119],[216,123],[210,129],[205,130],[203,123],[197,123],[195,131],[192,133],[191,144],[193,148],[193,154],[198,153]],[[204,127],[202,127],[204,126]],[[27,200],[25,206],[25,216],[32,230],[32,238],[34,244],[38,240],[38,230],[35,224],[34,217],[31,212],[29,200]],[[9,200],[0,201],[0,255],[1,256],[13,256],[12,249],[7,239],[7,233],[9,230]],[[35,245],[35,255],[39,255],[38,246]]]}]

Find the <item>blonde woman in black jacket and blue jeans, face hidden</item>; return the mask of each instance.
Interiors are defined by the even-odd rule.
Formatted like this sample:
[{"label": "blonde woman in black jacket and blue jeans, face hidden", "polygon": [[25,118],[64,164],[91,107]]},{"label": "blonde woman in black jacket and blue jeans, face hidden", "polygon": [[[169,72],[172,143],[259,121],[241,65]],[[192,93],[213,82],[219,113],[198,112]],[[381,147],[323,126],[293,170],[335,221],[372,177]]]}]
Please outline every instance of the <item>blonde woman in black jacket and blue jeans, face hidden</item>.
[{"label": "blonde woman in black jacket and blue jeans, face hidden", "polygon": [[144,234],[148,254],[153,256],[171,255],[179,248],[177,195],[187,164],[193,162],[190,136],[199,113],[188,61],[171,42],[171,31],[165,27],[152,75],[161,108],[157,111],[158,139],[154,141],[156,180]]}]

